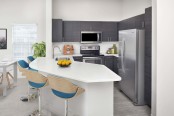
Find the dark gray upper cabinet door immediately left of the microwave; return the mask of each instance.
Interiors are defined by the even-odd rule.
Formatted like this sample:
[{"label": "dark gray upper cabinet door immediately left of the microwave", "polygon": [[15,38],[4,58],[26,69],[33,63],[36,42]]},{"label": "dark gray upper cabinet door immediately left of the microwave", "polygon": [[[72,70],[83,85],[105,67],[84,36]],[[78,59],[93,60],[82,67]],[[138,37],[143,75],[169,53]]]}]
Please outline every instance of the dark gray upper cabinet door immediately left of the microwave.
[{"label": "dark gray upper cabinet door immediately left of the microwave", "polygon": [[80,42],[80,22],[64,21],[64,41]]}]

